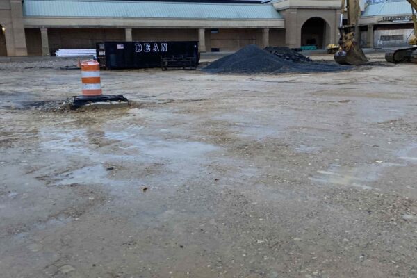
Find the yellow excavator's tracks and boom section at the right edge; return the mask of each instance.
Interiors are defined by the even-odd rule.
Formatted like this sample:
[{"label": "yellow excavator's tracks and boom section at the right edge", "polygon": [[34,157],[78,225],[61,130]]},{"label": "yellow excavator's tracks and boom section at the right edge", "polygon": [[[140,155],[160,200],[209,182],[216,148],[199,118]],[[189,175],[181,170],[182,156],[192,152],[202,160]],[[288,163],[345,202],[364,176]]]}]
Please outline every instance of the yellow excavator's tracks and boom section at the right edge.
[{"label": "yellow excavator's tracks and boom section at the right edge", "polygon": [[417,19],[416,19],[416,10],[417,10],[417,0],[407,0],[411,5],[412,10],[412,19],[414,23],[414,34],[411,35],[409,39],[409,45],[414,47],[407,47],[402,49],[395,49],[389,51],[385,54],[385,60],[390,63],[417,63]]}]

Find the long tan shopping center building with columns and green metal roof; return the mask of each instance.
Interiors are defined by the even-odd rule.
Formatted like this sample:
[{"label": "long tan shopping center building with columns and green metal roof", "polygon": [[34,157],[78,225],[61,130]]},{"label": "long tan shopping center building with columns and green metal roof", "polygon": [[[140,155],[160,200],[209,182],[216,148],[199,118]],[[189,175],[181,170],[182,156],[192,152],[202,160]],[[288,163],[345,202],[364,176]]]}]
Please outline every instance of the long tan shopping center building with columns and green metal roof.
[{"label": "long tan shopping center building with columns and green metal roof", "polygon": [[[196,40],[204,52],[247,44],[325,48],[338,40],[339,0],[219,2],[0,0],[0,56],[47,56],[57,49],[92,49],[102,41]],[[379,45],[382,38],[385,45],[381,36],[388,26],[405,26],[381,21],[378,5],[368,3],[363,12],[363,44]],[[411,15],[411,8],[398,15]]]}]

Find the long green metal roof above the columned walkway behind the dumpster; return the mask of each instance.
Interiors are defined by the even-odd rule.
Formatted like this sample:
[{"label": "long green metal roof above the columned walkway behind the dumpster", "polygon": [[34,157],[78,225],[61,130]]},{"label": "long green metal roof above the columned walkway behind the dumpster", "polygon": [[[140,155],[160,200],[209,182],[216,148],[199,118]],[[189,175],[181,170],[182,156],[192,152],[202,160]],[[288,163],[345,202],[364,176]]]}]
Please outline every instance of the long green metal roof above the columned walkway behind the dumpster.
[{"label": "long green metal roof above the columned walkway behind the dumpster", "polygon": [[25,17],[282,19],[271,4],[25,0]]}]

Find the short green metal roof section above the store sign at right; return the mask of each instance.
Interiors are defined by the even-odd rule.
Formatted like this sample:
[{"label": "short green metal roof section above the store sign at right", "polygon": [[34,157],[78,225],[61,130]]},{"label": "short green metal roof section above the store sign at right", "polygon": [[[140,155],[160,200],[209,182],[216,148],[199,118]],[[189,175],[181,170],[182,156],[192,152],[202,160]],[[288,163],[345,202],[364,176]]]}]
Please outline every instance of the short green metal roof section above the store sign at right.
[{"label": "short green metal roof section above the store sign at right", "polygon": [[362,17],[378,15],[411,15],[411,5],[406,0],[389,0],[369,3]]}]

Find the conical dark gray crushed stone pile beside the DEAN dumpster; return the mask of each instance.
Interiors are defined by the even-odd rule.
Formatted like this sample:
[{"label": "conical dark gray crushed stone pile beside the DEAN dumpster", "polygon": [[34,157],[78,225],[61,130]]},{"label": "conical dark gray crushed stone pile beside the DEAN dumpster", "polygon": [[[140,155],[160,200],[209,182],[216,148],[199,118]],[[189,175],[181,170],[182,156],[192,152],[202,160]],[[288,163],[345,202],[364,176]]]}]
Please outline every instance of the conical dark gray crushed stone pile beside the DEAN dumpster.
[{"label": "conical dark gray crushed stone pile beside the DEAN dumpster", "polygon": [[336,63],[286,60],[286,58],[270,54],[270,52],[251,44],[234,54],[215,60],[202,70],[210,73],[277,74],[285,72],[335,72],[350,68],[350,66]]}]

